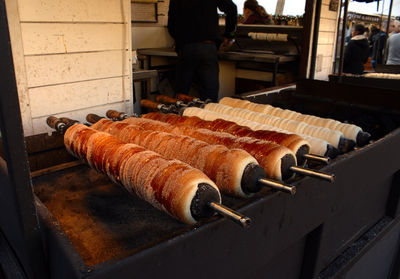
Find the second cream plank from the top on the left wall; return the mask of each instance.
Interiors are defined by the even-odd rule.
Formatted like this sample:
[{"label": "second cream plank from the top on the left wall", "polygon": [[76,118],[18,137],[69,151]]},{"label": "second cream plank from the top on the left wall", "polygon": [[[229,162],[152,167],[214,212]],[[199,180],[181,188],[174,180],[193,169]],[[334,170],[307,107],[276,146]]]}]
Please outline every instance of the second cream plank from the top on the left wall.
[{"label": "second cream plank from the top on the left wall", "polygon": [[121,50],[123,24],[22,23],[25,55]]}]

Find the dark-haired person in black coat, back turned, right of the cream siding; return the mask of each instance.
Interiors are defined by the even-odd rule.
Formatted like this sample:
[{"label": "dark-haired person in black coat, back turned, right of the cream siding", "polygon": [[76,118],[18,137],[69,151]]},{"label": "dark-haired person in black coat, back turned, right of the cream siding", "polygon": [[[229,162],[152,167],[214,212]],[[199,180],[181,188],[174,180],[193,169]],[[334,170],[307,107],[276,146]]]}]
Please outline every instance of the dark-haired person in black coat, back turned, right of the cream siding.
[{"label": "dark-haired person in black coat, back turned, right of the cream siding", "polygon": [[344,53],[344,73],[361,75],[364,72],[364,64],[368,60],[369,53],[368,40],[364,33],[364,25],[354,26],[352,37]]}]

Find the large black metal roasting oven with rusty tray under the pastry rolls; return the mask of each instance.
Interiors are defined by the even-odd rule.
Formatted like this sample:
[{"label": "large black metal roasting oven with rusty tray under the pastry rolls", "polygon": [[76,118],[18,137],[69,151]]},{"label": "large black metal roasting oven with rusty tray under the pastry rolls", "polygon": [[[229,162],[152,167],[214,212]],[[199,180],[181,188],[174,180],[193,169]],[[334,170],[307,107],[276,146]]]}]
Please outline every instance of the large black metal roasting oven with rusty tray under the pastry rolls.
[{"label": "large black metal roasting oven with rusty tray under the pastry rolls", "polygon": [[335,173],[333,184],[301,178],[291,181],[293,197],[267,189],[247,200],[224,196],[253,219],[246,230],[219,216],[179,223],[76,162],[62,135],[26,138],[51,277],[310,278],[382,218],[398,228],[398,97],[374,105],[372,93],[361,98],[343,85],[336,94],[336,86],[304,81],[296,90],[242,96],[354,122],[373,136],[321,169]]}]

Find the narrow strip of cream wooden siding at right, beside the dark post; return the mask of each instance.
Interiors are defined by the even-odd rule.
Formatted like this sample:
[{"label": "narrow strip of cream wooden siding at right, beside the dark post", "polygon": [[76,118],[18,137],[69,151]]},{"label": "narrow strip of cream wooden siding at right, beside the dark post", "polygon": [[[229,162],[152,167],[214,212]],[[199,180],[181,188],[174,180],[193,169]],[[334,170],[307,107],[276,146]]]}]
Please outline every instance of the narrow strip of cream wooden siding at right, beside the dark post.
[{"label": "narrow strip of cream wooden siding at right, beside the dark post", "polygon": [[329,10],[330,0],[322,1],[315,79],[327,80],[332,73],[339,12]]}]

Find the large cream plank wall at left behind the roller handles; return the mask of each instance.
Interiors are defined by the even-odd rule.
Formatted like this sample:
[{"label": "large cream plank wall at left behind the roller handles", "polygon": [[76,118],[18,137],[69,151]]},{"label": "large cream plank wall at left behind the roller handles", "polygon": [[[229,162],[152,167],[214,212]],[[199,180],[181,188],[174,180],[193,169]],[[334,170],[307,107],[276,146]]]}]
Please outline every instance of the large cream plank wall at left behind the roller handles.
[{"label": "large cream plank wall at left behind the roller handles", "polygon": [[6,0],[25,136],[49,115],[130,112],[130,0]]}]

